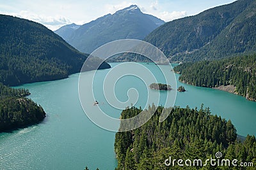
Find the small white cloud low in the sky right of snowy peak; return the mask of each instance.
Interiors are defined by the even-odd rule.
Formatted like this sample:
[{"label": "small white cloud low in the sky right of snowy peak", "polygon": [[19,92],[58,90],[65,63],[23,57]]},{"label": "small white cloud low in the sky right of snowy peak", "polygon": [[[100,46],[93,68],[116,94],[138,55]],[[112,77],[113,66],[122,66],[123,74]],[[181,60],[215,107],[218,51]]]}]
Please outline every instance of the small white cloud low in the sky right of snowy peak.
[{"label": "small white cloud low in the sky right of snowy peak", "polygon": [[161,13],[158,13],[156,16],[161,18],[165,22],[169,22],[171,20],[186,17],[187,13],[186,11],[172,11],[172,12],[163,11]]}]

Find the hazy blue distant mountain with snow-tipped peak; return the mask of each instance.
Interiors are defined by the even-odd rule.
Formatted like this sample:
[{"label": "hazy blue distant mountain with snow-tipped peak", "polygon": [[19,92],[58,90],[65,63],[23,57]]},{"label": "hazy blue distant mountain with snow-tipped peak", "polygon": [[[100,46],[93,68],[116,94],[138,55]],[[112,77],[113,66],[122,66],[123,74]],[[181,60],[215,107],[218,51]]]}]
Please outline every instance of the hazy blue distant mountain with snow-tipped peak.
[{"label": "hazy blue distant mountain with snow-tipped peak", "polygon": [[54,31],[77,50],[91,53],[105,43],[116,39],[144,39],[164,21],[142,13],[136,5],[97,18],[84,25],[65,25]]}]

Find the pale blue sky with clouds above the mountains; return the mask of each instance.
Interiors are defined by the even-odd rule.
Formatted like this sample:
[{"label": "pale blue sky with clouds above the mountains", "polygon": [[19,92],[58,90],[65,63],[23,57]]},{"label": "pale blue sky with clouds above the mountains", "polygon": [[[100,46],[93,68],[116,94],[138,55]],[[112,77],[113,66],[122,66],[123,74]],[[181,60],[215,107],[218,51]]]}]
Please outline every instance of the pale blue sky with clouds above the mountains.
[{"label": "pale blue sky with clouds above the mountains", "polygon": [[137,4],[143,13],[154,15],[168,22],[232,2],[234,0],[0,0],[0,13],[27,18],[56,30],[62,25],[73,22],[85,24],[108,13],[115,13],[131,4]]}]

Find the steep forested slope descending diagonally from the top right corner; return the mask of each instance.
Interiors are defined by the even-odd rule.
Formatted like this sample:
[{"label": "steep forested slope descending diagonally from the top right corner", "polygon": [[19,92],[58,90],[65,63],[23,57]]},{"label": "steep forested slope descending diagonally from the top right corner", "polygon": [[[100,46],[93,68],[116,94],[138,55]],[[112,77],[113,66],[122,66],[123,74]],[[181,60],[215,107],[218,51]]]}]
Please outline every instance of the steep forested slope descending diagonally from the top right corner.
[{"label": "steep forested slope descending diagonally from the top right corner", "polygon": [[256,1],[236,17],[209,44],[195,53],[185,56],[187,59],[221,59],[241,53],[256,52]]}]

